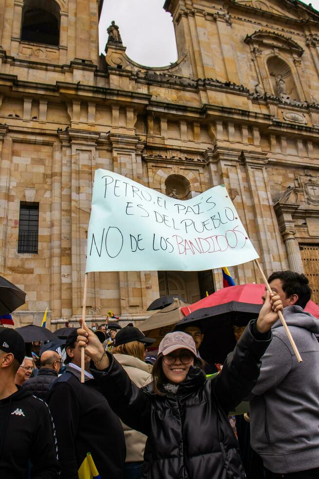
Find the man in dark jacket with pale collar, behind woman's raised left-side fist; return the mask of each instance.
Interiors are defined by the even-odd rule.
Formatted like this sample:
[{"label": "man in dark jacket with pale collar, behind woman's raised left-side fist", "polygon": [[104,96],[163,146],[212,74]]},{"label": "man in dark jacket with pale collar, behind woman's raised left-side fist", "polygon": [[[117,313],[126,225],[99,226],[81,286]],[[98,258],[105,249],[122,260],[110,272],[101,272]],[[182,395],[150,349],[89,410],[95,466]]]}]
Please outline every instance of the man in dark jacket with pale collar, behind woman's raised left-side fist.
[{"label": "man in dark jacket with pale collar, behind woman's raised left-side fist", "polygon": [[[84,384],[80,382],[81,351],[76,339],[75,328],[65,345],[66,371],[48,395],[57,431],[61,479],[78,479],[78,470],[89,452],[101,479],[123,479],[126,450],[120,420],[90,373],[86,355]],[[107,436],[112,440],[107,441]]]}]

